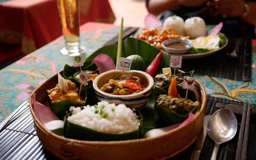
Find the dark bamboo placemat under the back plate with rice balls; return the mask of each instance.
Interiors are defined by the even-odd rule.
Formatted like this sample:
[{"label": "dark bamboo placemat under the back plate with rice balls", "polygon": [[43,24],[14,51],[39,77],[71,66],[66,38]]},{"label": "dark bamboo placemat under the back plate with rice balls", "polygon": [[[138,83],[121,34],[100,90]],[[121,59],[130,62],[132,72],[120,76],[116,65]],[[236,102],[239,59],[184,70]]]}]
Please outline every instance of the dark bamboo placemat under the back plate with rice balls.
[{"label": "dark bamboo placemat under the back plate with rice balls", "polygon": [[250,38],[229,38],[228,45],[212,55],[198,59],[183,59],[182,70],[195,70],[208,75],[237,81],[250,81],[252,43]]}]

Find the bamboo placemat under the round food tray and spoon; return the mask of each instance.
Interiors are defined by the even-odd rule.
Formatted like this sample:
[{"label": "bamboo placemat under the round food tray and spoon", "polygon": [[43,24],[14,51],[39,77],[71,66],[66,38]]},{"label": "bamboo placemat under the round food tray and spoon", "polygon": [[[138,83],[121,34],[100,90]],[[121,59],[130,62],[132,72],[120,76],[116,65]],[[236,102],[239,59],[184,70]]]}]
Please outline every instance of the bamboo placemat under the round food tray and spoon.
[{"label": "bamboo placemat under the round food tray and spoon", "polygon": [[[228,104],[235,105],[235,107],[230,108],[231,105]],[[205,115],[212,115],[218,109],[217,107],[230,108],[235,112],[238,121],[238,131],[235,137],[220,145],[217,159],[254,159],[256,119],[255,116],[250,115],[255,114],[256,106],[208,97]],[[39,141],[28,101],[22,103],[18,109],[20,110],[17,114],[0,131],[1,159],[58,159],[44,149]],[[199,159],[210,159],[213,146],[214,142],[207,136]],[[171,159],[189,159],[192,150],[193,145]]]}]

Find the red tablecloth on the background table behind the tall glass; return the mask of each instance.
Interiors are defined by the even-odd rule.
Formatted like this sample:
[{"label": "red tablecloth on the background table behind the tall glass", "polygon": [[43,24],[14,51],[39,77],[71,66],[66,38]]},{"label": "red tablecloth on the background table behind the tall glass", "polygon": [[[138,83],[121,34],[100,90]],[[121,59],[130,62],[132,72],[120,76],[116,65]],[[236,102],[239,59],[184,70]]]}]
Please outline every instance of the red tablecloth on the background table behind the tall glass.
[{"label": "red tablecloth on the background table behind the tall glass", "polygon": [[[108,0],[80,0],[81,25],[114,20]],[[0,5],[0,62],[13,56],[7,47],[30,53],[61,34],[56,0],[11,0]]]}]

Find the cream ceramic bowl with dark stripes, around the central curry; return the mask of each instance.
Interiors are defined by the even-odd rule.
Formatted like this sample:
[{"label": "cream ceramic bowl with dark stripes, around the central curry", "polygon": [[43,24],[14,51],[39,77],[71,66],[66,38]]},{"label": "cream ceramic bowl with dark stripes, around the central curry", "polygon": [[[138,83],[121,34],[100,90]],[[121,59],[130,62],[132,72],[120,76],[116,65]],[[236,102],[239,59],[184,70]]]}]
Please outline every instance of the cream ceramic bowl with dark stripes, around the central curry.
[{"label": "cream ceramic bowl with dark stripes, around the central curry", "polygon": [[[146,86],[146,89],[128,95],[115,95],[106,93],[100,90],[101,86],[109,81],[109,79],[116,77],[121,77],[123,75],[133,75],[138,76],[141,79],[141,84]],[[127,107],[131,108],[139,108],[148,101],[150,94],[152,92],[154,85],[154,79],[144,71],[140,70],[130,70],[130,71],[123,71],[123,70],[109,70],[100,75],[98,75],[93,80],[93,89],[95,91],[96,97],[98,100],[106,100],[110,103],[115,103],[116,105],[120,103],[124,103]]]}]

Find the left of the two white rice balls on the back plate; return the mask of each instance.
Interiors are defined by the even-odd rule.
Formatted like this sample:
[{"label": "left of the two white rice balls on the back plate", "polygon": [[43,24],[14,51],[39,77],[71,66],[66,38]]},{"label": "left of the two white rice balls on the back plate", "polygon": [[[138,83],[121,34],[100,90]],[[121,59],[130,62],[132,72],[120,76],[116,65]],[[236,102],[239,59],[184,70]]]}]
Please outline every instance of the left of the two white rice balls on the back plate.
[{"label": "left of the two white rice balls on the back plate", "polygon": [[184,35],[184,20],[177,15],[172,15],[164,20],[163,28],[173,28],[176,34]]}]

